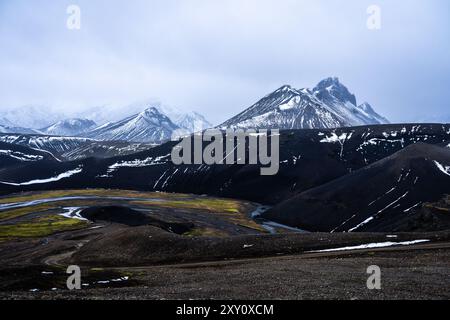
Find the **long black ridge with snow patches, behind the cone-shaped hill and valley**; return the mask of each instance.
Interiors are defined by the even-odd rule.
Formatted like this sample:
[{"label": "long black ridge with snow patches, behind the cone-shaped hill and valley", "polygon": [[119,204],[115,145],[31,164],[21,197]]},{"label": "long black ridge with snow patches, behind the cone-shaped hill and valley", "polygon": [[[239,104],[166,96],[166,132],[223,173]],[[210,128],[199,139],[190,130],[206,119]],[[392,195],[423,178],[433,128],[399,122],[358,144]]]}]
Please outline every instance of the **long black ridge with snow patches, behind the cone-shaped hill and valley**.
[{"label": "long black ridge with snow patches, behind the cone-shaped hill and valley", "polygon": [[[0,174],[0,181],[20,184],[65,170],[82,171],[45,185],[8,186],[0,192],[104,187],[187,192],[278,204],[303,191],[343,177],[417,142],[442,144],[450,125],[379,125],[327,130],[288,130],[280,136],[280,170],[261,176],[260,165],[174,165],[176,142],[127,156],[86,159],[52,168],[39,164]],[[224,151],[225,155],[225,151]]]}]

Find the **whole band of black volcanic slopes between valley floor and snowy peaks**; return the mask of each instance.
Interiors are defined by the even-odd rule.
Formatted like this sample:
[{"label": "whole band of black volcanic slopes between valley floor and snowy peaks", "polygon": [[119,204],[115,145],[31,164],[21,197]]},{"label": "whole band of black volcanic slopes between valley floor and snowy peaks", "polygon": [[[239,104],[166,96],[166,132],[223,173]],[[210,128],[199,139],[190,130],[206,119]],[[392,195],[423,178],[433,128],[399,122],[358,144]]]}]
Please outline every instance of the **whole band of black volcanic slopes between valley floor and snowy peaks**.
[{"label": "whole band of black volcanic slopes between valley floor and snowy peaks", "polygon": [[[0,172],[0,192],[99,187],[219,195],[275,205],[269,213],[273,220],[327,231],[356,214],[351,224],[348,222],[342,230],[355,228],[400,198],[381,212],[381,222],[366,223],[354,231],[389,230],[389,226],[394,224],[402,229],[407,223],[399,224],[399,221],[408,217],[408,212],[404,212],[407,206],[417,205],[418,208],[421,204],[439,201],[449,193],[450,177],[444,173],[450,166],[446,158],[450,152],[446,147],[449,140],[450,125],[439,124],[282,131],[280,170],[274,176],[261,176],[260,165],[177,166],[170,157],[176,142],[168,142],[115,158],[90,158],[51,165],[37,162],[20,168],[12,167]],[[436,146],[417,144],[406,148],[418,142]],[[369,173],[364,174],[366,171]],[[377,175],[380,178],[376,178]],[[414,184],[416,177],[418,180]],[[343,180],[336,183],[339,178]],[[37,184],[35,181],[45,183]],[[431,181],[436,186],[432,186]],[[327,186],[330,183],[335,184],[333,190]],[[287,211],[289,217],[279,213],[277,205],[289,204],[296,197],[303,199],[304,192],[314,190],[329,192],[323,193],[323,198],[320,197],[322,193],[317,193],[317,199],[325,201],[323,208],[337,212],[336,216],[330,214],[329,224],[323,222],[326,217],[319,220],[310,218],[310,224],[300,224],[295,220],[298,212],[294,209]],[[352,198],[350,190],[354,192]],[[358,190],[363,194],[358,194]],[[344,197],[346,192],[349,192],[348,198]],[[404,195],[406,192],[409,193]],[[377,200],[385,193],[388,193],[386,197]],[[326,197],[330,199],[329,208],[326,207]],[[340,197],[342,202],[339,203]],[[367,210],[372,201],[375,202],[370,209],[374,208],[375,212]],[[306,204],[302,205],[306,208]],[[382,214],[384,212],[389,214]],[[385,220],[386,217],[396,218]]]}]

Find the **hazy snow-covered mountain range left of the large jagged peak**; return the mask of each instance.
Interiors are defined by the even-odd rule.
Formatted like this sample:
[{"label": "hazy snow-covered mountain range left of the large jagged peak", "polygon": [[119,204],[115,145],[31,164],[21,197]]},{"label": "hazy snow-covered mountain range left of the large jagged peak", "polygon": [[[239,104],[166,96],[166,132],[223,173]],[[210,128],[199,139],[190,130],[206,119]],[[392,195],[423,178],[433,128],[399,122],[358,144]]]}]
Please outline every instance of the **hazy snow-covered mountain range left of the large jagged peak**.
[{"label": "hazy snow-covered mountain range left of the large jagged peak", "polygon": [[[136,106],[130,107],[131,110]],[[105,110],[101,108],[104,118]],[[39,108],[26,107],[25,110],[17,112],[8,111],[6,116],[0,118],[0,133],[5,134],[29,134],[29,135],[52,135],[59,137],[85,137],[99,141],[126,141],[132,143],[161,143],[170,139],[175,130],[183,130],[191,133],[212,127],[204,116],[197,112],[183,113],[176,108],[155,104],[155,107],[147,107],[131,116],[118,121],[111,121],[100,126],[90,119],[72,118],[58,120],[50,125],[44,120],[45,113]],[[14,119],[11,121],[8,117]],[[31,120],[35,118],[35,120]],[[60,117],[56,116],[56,117]],[[49,117],[54,119],[54,117]],[[16,123],[30,124],[30,127],[16,125]]]}]

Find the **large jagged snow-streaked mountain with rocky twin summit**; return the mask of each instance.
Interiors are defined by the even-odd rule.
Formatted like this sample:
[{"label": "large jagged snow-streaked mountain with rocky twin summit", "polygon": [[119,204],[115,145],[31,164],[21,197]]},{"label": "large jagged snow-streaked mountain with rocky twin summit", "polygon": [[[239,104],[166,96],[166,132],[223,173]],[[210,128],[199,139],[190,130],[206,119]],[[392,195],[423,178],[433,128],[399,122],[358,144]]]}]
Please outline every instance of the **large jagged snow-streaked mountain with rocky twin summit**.
[{"label": "large jagged snow-streaked mountain with rocky twin summit", "polygon": [[327,78],[314,89],[282,86],[219,127],[321,129],[385,123],[368,103],[358,106],[338,78]]}]

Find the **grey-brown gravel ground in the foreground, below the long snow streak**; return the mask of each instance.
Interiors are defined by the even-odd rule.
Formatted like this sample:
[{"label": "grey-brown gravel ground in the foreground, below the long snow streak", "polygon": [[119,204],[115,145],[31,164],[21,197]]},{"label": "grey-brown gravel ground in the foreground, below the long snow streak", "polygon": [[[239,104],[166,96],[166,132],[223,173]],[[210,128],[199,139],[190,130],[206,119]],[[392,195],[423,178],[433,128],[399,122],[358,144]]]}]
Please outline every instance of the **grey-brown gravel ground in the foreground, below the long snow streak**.
[{"label": "grey-brown gravel ground in the foreground, below the long snow streak", "polygon": [[[368,290],[366,269],[381,268]],[[2,299],[450,299],[450,242],[415,248],[119,268],[135,286],[0,292]],[[4,274],[4,270],[2,270]]]}]

